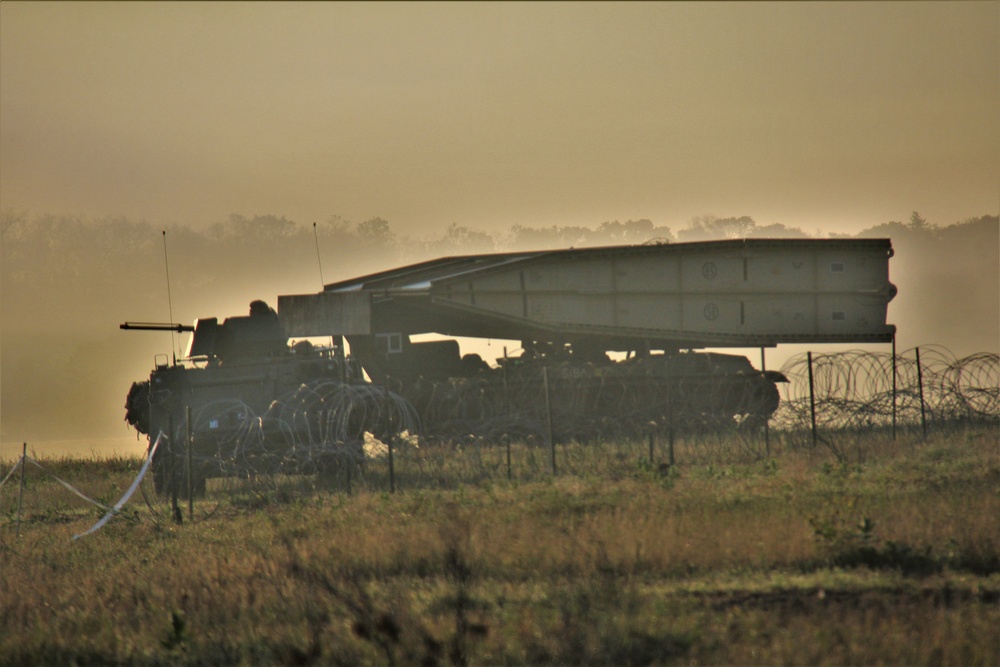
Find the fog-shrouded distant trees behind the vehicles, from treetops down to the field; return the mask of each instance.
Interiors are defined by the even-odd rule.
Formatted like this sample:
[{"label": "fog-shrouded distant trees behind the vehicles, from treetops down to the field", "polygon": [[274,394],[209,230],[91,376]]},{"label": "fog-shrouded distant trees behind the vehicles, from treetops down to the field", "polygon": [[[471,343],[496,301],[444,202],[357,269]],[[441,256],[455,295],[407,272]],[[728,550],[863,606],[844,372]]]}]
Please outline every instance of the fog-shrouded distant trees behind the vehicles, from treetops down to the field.
[{"label": "fog-shrouded distant trees behind the vehicles, from treetops down to the field", "polygon": [[[151,344],[169,341],[118,331],[127,319],[169,317],[164,229],[122,217],[4,211],[0,231],[5,437],[87,437],[120,428],[116,410],[128,379],[148,373]],[[339,216],[317,224],[314,237],[312,224],[238,213],[204,229],[171,225],[166,232],[173,317],[187,323],[243,314],[255,298],[273,301],[277,294],[319,290],[317,240],[329,283],[455,254],[808,236],[781,224],[758,225],[749,216],[701,216],[676,237],[669,227],[640,219],[502,231],[453,223],[439,234],[414,238],[380,217],[355,224]],[[914,212],[908,222],[876,225],[859,236],[893,241],[890,279],[899,296],[890,319],[899,327],[901,345],[939,342],[959,354],[997,348],[996,215],[938,227]],[[110,396],[114,392],[121,396]]]}]

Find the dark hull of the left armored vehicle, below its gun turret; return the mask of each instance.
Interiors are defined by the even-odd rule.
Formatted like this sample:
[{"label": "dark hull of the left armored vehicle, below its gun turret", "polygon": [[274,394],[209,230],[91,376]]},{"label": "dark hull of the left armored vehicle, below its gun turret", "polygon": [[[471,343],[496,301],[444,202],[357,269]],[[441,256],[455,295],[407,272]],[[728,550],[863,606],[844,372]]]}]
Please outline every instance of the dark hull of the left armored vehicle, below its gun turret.
[{"label": "dark hull of the left armored vehicle, below its gun turret", "polygon": [[189,467],[195,488],[211,477],[310,465],[314,472],[320,442],[328,441],[327,454],[346,450],[369,426],[344,424],[334,433],[319,420],[330,388],[344,393],[358,382],[356,369],[325,350],[160,366],[132,385],[125,418],[151,439],[163,434],[153,465],[156,488],[183,494]]}]

